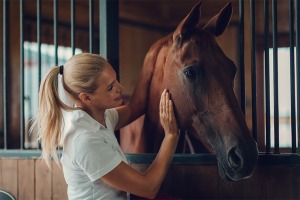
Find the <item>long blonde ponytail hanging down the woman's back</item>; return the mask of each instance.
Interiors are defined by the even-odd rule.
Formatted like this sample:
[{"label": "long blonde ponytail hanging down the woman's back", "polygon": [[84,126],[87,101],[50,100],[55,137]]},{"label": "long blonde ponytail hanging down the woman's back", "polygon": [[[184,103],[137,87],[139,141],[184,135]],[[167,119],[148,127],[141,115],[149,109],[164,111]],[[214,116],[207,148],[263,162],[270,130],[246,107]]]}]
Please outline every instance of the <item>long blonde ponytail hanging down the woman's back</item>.
[{"label": "long blonde ponytail hanging down the woman's back", "polygon": [[50,159],[59,164],[57,149],[62,135],[62,109],[76,110],[64,104],[58,95],[58,75],[60,67],[52,67],[40,85],[38,113],[33,119],[33,128],[37,128],[38,141],[42,145],[42,159],[50,168]]}]

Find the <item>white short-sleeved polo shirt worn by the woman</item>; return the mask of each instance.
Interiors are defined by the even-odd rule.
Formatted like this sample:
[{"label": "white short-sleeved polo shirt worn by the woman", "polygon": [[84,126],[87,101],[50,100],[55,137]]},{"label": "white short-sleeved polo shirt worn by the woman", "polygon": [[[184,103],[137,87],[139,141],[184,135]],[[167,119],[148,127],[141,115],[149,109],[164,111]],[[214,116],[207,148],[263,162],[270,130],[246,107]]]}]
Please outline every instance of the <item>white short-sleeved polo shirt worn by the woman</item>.
[{"label": "white short-sleeved polo shirt worn by the woman", "polygon": [[99,179],[121,161],[127,163],[114,134],[118,119],[116,109],[106,110],[106,128],[82,110],[72,112],[61,158],[70,200],[126,199],[125,192]]}]

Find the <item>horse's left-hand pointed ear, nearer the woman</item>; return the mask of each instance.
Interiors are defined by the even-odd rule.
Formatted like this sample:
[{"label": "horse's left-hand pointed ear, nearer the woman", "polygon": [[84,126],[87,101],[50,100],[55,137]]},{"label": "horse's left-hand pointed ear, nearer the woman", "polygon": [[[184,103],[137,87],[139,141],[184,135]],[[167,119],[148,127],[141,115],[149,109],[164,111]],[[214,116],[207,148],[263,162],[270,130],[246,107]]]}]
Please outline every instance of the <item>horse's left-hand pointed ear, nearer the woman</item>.
[{"label": "horse's left-hand pointed ear, nearer the woman", "polygon": [[191,12],[180,22],[173,33],[173,41],[181,46],[182,40],[191,29],[199,26],[201,15],[201,2],[193,7]]}]

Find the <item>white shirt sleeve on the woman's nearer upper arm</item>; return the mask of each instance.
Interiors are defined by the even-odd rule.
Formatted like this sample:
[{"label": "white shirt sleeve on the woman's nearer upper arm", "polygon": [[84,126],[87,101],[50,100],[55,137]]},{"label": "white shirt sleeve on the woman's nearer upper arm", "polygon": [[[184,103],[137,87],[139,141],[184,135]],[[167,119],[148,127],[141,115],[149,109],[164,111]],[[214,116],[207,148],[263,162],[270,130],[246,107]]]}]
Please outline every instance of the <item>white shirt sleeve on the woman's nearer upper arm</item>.
[{"label": "white shirt sleeve on the woman's nearer upper arm", "polygon": [[[117,148],[99,136],[99,132],[82,134],[77,138],[75,162],[95,181],[117,167],[122,158]],[[104,133],[105,134],[105,133]]]}]

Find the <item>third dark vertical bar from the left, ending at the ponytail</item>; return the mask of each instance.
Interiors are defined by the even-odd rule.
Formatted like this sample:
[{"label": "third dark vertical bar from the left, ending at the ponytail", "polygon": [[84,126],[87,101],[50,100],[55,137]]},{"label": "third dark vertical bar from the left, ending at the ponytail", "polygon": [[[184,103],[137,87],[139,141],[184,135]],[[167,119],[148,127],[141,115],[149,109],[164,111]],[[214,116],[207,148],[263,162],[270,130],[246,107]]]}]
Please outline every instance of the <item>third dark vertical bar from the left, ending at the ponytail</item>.
[{"label": "third dark vertical bar from the left, ending at the ponytail", "polygon": [[41,84],[42,79],[42,53],[41,53],[41,0],[37,0],[36,2],[36,11],[37,11],[37,27],[36,27],[36,41],[38,45],[38,56],[37,56],[37,63],[38,63],[38,80],[39,85]]}]

